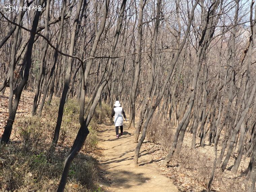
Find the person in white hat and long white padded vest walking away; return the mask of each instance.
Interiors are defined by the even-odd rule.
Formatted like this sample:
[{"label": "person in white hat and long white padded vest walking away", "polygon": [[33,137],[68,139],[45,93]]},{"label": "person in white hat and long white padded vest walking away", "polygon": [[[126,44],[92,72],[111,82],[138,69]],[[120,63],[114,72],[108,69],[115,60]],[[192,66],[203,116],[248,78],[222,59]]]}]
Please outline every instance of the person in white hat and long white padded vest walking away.
[{"label": "person in white hat and long white padded vest walking away", "polygon": [[118,133],[119,126],[120,126],[121,135],[123,135],[123,122],[124,122],[124,119],[123,119],[122,115],[124,116],[125,121],[127,121],[127,118],[126,118],[126,115],[124,113],[123,107],[121,107],[121,104],[120,104],[119,101],[116,101],[115,104],[114,104],[114,108],[112,110],[112,113],[111,113],[111,117],[115,116],[114,123],[115,123],[115,126],[116,126],[117,138],[119,138],[119,133]]}]

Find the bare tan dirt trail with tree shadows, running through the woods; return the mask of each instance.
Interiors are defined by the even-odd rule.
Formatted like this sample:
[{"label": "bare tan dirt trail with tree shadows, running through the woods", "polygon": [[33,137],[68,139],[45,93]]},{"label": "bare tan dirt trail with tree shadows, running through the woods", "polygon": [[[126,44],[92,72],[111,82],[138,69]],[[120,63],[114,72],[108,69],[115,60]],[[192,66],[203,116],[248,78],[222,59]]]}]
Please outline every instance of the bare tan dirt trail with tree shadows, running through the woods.
[{"label": "bare tan dirt trail with tree shadows, running through the woods", "polygon": [[133,165],[136,143],[133,142],[134,129],[128,129],[128,122],[124,121],[124,135],[118,139],[115,138],[114,125],[101,129],[100,168],[103,170],[101,184],[104,191],[178,191],[172,181],[157,168],[143,145],[140,150],[139,166]]}]

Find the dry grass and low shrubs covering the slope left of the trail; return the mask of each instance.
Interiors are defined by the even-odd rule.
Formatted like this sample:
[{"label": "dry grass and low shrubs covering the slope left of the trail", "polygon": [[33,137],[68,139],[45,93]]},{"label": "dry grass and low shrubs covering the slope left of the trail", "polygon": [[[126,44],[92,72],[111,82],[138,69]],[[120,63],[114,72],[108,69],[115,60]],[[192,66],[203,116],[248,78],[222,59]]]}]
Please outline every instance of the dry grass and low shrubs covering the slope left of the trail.
[{"label": "dry grass and low shrubs covering the slope left of the trail", "polygon": [[[13,125],[12,139],[0,146],[1,191],[56,191],[65,157],[79,129],[79,105],[75,99],[65,104],[60,137],[56,151],[48,154],[54,133],[59,99],[46,105],[41,117],[28,114],[18,117]],[[97,189],[97,160],[93,152],[97,148],[98,123],[108,121],[109,107],[97,106],[83,149],[73,161],[65,191],[100,191]]]}]

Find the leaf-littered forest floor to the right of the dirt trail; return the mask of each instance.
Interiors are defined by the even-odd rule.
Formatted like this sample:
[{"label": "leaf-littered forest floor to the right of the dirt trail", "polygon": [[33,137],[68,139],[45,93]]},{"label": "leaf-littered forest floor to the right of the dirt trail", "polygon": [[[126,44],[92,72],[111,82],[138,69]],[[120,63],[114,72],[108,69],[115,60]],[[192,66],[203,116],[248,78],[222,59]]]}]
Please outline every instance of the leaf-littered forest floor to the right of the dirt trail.
[{"label": "leaf-littered forest floor to the right of the dirt trail", "polygon": [[[155,139],[156,141],[152,142],[150,131],[160,130],[161,132],[163,127],[158,124],[157,129],[150,130],[150,126],[152,125],[150,124],[148,126],[146,139],[143,142],[143,145],[149,152],[152,162],[155,162],[162,173],[173,181],[179,191],[206,192],[214,161],[214,146],[213,144],[209,145],[207,140],[209,135],[206,134],[204,148],[200,147],[200,137],[196,137],[196,147],[195,149],[192,149],[192,134],[185,132],[181,149],[175,151],[168,167],[163,167],[162,163],[173,143],[173,135],[176,128],[169,126],[169,136],[165,137],[166,133],[163,133],[160,138],[157,138]],[[217,151],[218,157],[220,155],[221,148],[222,142],[219,142]],[[246,178],[244,171],[248,167],[250,158],[247,157],[244,159],[243,157],[237,173],[233,174],[230,169],[233,166],[236,156],[237,153],[234,152],[230,157],[224,172],[222,172],[219,167],[215,170],[214,180],[211,185],[211,192],[246,191],[248,178]]]}]

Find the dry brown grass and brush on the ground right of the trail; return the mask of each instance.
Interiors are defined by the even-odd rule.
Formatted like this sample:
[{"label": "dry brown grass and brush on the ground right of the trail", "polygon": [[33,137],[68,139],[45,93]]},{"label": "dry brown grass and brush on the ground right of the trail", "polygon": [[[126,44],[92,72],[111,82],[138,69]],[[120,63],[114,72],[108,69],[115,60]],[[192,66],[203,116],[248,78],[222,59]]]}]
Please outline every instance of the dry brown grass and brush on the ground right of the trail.
[{"label": "dry brown grass and brush on the ground right of the trail", "polygon": [[[145,143],[147,150],[151,152],[152,159],[161,167],[164,174],[171,178],[181,191],[204,191],[207,188],[212,171],[214,161],[213,146],[201,148],[197,144],[195,149],[191,149],[192,134],[186,132],[182,148],[175,151],[169,163],[170,166],[163,168],[162,161],[173,142],[174,132],[175,128],[166,126],[162,118],[153,117],[147,129],[146,140],[148,142]],[[197,142],[199,140],[200,138],[197,138]],[[230,163],[233,163],[233,159],[230,159]],[[241,172],[242,170],[239,169],[238,174],[234,175],[229,170],[225,170],[222,173],[217,168],[212,189],[223,192],[245,191],[247,179]]]}]

